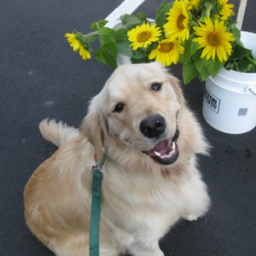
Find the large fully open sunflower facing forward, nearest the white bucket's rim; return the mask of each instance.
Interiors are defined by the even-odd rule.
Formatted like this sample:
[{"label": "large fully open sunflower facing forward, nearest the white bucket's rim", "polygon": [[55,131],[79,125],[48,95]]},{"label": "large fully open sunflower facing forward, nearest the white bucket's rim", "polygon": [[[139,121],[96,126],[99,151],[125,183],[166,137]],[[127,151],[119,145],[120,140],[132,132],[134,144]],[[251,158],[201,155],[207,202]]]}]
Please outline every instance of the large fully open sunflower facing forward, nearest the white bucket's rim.
[{"label": "large fully open sunflower facing forward, nearest the white bucket's rim", "polygon": [[230,42],[234,41],[233,35],[230,32],[226,32],[224,21],[218,22],[207,17],[205,23],[200,22],[200,26],[194,26],[195,35],[198,38],[194,38],[193,41],[199,43],[199,48],[203,48],[201,58],[206,57],[207,61],[212,57],[212,61],[215,60],[217,55],[220,62],[227,61],[228,55],[231,55],[232,45]]}]

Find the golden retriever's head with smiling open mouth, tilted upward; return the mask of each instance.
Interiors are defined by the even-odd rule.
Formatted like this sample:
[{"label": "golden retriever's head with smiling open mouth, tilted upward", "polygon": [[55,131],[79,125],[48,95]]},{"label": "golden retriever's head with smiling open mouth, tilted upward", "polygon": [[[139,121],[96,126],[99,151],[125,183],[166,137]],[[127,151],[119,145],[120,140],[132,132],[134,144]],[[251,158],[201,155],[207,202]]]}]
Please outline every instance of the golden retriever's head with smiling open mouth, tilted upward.
[{"label": "golden retriever's head with smiling open mouth, tilted upward", "polygon": [[[131,149],[171,165],[179,154],[179,115],[185,108],[177,79],[159,63],[118,67],[90,102],[82,132],[102,156]],[[112,148],[111,148],[112,145]]]}]

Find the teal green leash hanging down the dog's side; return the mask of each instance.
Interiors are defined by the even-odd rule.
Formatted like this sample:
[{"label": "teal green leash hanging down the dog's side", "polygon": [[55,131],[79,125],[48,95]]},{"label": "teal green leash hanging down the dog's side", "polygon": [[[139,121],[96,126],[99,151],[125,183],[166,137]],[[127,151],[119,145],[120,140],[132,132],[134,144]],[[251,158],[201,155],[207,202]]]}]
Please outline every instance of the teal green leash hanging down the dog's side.
[{"label": "teal green leash hanging down the dog's side", "polygon": [[100,223],[102,208],[102,166],[108,159],[104,155],[100,164],[92,167],[92,186],[91,186],[91,208],[90,208],[90,256],[100,255]]}]

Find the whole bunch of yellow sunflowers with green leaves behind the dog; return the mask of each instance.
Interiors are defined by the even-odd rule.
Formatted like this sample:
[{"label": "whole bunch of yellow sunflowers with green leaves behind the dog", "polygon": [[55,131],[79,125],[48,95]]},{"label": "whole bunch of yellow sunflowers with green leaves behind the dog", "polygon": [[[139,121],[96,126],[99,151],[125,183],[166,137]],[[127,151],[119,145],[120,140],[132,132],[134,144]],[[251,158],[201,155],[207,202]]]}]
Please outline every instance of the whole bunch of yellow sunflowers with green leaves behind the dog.
[{"label": "whole bunch of yellow sunflowers with green leaves behind the dog", "polygon": [[[175,0],[164,2],[155,19],[147,15],[122,15],[119,26],[109,28],[107,20],[90,26],[93,32],[67,33],[67,41],[82,59],[117,67],[117,55],[132,63],[159,61],[164,66],[180,63],[183,82],[214,77],[222,67],[239,72],[256,72],[252,51],[240,41],[240,31],[230,17],[234,5],[228,0]],[[100,42],[93,52],[92,43]],[[98,44],[97,44],[98,45]]]}]

